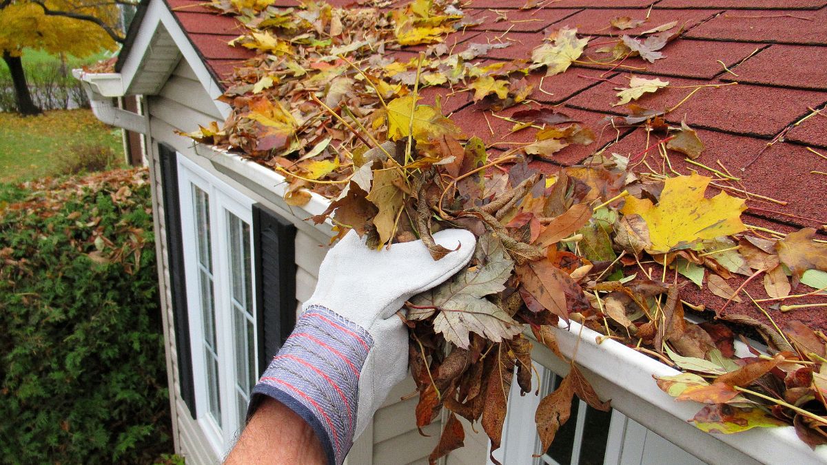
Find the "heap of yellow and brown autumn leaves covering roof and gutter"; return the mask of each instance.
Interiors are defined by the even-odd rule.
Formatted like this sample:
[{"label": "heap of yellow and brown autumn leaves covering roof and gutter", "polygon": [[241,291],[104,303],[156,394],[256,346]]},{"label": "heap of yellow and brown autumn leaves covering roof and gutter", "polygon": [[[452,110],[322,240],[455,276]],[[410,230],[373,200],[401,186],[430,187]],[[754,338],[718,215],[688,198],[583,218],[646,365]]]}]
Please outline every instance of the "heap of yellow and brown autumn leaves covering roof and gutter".
[{"label": "heap of yellow and brown autumn leaves covering roof and gutter", "polygon": [[[500,447],[514,373],[523,394],[533,388],[532,343],[523,331],[530,328],[563,357],[554,335],[561,320],[572,319],[683,369],[659,386],[708,403],[694,420],[702,429],[795,424],[810,445],[827,442],[823,335],[803,324],[782,330],[720,312],[719,319],[752,327],[770,354],[750,348],[747,357],[737,357],[729,327],[686,321],[681,300],[687,281],[700,286],[705,280],[715,295],[741,300],[743,290],[726,284],[737,274],[764,275],[770,300],[778,302],[801,296],[790,295],[801,283],[816,289],[802,295],[822,295],[827,246],[815,240],[815,230],[758,236],[740,220],[744,199],[723,192],[705,197],[712,178],[636,174],[630,159],[616,154],[595,154],[585,165],[543,175],[533,159],[595,140],[591,128],[552,108],[514,113],[513,131],[537,127],[537,136],[501,152],[463,134],[438,100],[420,103],[421,89],[434,85],[472,91],[482,108],[521,103],[533,90],[525,74],[565,72],[589,38],[562,28],[530,61],[484,65],[475,62],[478,56],[509,42],[472,43],[453,53],[442,36],[471,22],[451,2],[415,0],[385,12],[323,2],[279,8],[266,0],[222,0],[213,7],[249,28],[232,45],[258,53],[235,71],[222,96],[233,108],[224,126],[213,123],[189,137],[272,166],[289,179],[290,204],[306,203],[311,191],[332,199],[313,220],[329,218],[340,236],[354,229],[368,247],[421,239],[439,260],[450,251],[434,242],[433,232],[466,228],[478,238],[469,266],[406,302],[399,314],[410,328],[418,427],[442,409],[449,412],[432,462],[461,447],[458,416],[480,421],[492,452]],[[633,27],[631,19],[620,19],[616,28]],[[618,61],[640,55],[651,62],[680,33],[675,28],[667,23],[622,36],[604,51]],[[385,56],[417,45],[427,53],[403,62]],[[632,78],[618,89],[618,104],[667,85]],[[659,151],[691,160],[704,149],[696,132],[662,119],[676,107],[636,108],[621,119],[661,137]],[[568,419],[574,395],[609,408],[571,362],[571,372],[538,407],[543,448]]]}]

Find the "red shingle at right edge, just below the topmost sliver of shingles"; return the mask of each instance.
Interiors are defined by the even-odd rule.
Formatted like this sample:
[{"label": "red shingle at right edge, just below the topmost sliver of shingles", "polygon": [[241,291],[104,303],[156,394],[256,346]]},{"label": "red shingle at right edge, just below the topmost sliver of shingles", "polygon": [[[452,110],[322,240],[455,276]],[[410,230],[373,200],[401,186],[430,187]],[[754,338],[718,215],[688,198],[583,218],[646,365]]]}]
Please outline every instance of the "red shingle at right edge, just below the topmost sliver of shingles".
[{"label": "red shingle at right edge, just below the topmost sliver of shingles", "polygon": [[737,10],[724,12],[686,37],[714,41],[827,45],[827,9],[815,12]]}]

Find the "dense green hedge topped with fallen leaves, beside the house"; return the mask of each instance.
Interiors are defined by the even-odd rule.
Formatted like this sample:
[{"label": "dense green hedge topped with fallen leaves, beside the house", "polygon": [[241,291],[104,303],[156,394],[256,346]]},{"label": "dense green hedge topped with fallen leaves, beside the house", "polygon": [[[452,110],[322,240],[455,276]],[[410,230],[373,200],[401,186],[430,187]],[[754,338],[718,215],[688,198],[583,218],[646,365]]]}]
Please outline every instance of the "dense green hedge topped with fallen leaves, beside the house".
[{"label": "dense green hedge topped with fallen leaves, beside the house", "polygon": [[0,463],[153,463],[172,444],[146,170],[4,189]]}]

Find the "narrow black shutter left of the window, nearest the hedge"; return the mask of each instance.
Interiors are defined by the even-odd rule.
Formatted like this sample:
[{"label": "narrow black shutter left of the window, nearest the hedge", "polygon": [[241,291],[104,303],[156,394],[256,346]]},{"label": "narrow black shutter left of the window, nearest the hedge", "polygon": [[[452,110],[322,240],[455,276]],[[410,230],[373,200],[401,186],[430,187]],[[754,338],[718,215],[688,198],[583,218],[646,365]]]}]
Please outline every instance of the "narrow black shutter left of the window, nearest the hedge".
[{"label": "narrow black shutter left of the window, nearest the hedge", "polygon": [[178,195],[178,158],[175,150],[158,144],[161,187],[164,193],[164,221],[166,224],[166,252],[170,264],[170,291],[175,348],[178,352],[178,378],[181,397],[195,413],[193,356],[189,345],[189,318],[187,316],[187,286],[184,275],[184,249],[181,237],[181,206]]}]

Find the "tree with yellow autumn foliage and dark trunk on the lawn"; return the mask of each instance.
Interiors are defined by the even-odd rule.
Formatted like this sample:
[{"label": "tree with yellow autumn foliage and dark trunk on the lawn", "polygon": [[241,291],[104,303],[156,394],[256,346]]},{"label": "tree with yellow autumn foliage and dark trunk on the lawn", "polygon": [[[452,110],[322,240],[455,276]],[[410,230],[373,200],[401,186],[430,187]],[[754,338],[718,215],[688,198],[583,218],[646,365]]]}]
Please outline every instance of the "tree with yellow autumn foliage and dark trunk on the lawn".
[{"label": "tree with yellow autumn foliage and dark trunk on the lawn", "polygon": [[23,73],[24,48],[90,55],[114,50],[123,36],[117,29],[125,0],[0,0],[0,50],[14,85],[17,111],[41,113],[31,100]]}]

